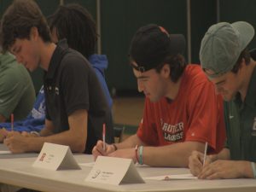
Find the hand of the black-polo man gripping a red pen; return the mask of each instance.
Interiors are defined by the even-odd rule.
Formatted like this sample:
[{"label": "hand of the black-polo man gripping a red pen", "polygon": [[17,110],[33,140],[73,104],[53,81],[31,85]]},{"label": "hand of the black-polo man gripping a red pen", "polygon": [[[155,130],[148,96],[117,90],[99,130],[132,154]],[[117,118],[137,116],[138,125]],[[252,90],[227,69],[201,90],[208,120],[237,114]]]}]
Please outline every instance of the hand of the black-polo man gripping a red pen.
[{"label": "hand of the black-polo man gripping a red pen", "polygon": [[27,138],[16,131],[10,131],[3,143],[14,154],[25,153],[29,145]]}]

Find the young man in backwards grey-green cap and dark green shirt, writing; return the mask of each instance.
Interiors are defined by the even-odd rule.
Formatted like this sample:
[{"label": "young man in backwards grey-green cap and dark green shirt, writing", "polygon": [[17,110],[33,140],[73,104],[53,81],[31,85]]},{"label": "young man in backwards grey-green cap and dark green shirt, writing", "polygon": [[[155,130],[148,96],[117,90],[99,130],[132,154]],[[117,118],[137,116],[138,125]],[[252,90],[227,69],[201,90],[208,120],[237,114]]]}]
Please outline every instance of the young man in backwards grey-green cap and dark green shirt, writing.
[{"label": "young man in backwards grey-green cap and dark green shirt, writing", "polygon": [[192,153],[189,168],[199,178],[256,177],[256,62],[247,49],[253,36],[247,22],[221,22],[201,41],[201,66],[226,101],[227,143],[204,166],[204,155]]}]

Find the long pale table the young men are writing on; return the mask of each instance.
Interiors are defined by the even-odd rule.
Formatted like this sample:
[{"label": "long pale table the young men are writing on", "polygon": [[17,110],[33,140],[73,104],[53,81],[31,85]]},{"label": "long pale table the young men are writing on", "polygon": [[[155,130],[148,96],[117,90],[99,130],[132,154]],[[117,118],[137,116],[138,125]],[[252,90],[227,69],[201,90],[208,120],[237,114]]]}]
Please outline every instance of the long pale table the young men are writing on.
[{"label": "long pale table the young men are writing on", "polygon": [[[0,149],[3,148],[0,144]],[[171,180],[155,181],[145,180],[145,183],[120,184],[119,186],[89,183],[84,178],[89,174],[91,167],[81,166],[81,170],[49,171],[32,167],[37,154],[9,154],[9,158],[3,158],[0,154],[0,183],[13,184],[29,189],[37,189],[53,192],[66,191],[129,191],[129,192],[255,192],[255,179],[222,179],[222,180]],[[20,155],[20,157],[19,157]],[[29,157],[25,157],[29,155]],[[93,157],[85,154],[74,154],[79,163],[91,162]],[[164,168],[137,166],[137,171],[142,177],[160,176],[165,174],[188,173],[185,168]]]}]

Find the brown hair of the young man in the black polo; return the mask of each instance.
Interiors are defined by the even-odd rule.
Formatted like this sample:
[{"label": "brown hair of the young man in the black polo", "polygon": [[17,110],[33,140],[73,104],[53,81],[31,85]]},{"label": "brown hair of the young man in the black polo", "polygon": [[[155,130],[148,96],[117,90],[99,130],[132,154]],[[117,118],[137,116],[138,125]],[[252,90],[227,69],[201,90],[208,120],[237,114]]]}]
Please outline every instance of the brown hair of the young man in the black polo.
[{"label": "brown hair of the young man in the black polo", "polygon": [[29,39],[32,27],[38,28],[38,33],[44,42],[51,42],[49,26],[33,0],[15,0],[3,14],[0,27],[0,43],[3,51],[15,44],[16,38]]}]

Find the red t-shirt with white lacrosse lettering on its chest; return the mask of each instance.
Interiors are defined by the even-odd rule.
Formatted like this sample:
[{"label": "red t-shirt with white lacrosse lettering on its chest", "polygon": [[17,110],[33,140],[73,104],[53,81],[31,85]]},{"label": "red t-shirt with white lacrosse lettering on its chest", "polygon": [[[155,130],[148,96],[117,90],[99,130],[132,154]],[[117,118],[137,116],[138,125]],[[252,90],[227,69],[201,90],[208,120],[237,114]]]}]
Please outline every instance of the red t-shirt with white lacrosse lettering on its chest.
[{"label": "red t-shirt with white lacrosse lettering on its chest", "polygon": [[145,101],[143,120],[137,131],[143,143],[162,146],[184,141],[208,143],[208,152],[224,147],[223,98],[198,65],[188,65],[182,75],[177,97],[170,101]]}]

